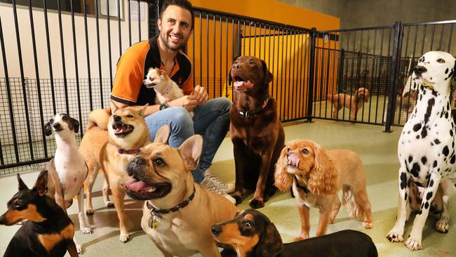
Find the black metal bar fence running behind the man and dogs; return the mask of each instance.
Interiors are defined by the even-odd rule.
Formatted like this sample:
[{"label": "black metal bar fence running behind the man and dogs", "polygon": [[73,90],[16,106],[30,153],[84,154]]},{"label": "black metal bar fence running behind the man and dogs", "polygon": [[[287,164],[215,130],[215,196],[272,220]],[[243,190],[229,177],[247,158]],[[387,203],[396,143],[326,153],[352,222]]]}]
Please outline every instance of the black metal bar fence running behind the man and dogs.
[{"label": "black metal bar fence running behind the man and dogs", "polygon": [[[83,136],[90,110],[107,107],[121,53],[156,33],[159,4],[11,2],[0,5],[0,175],[39,169],[52,157],[54,140],[42,128],[57,112],[79,119],[78,138]],[[281,121],[335,119],[391,131],[405,123],[404,110],[413,108],[410,96],[406,109],[403,103],[410,91],[405,81],[417,58],[431,49],[456,53],[456,21],[317,32],[203,8],[194,11],[194,34],[185,49],[194,63],[194,84],[206,87],[210,98],[231,98],[227,74],[232,60],[255,55],[274,74],[270,93],[278,100]],[[356,117],[350,119],[349,107],[334,116],[328,96],[354,95],[361,87],[370,98]]]}]

